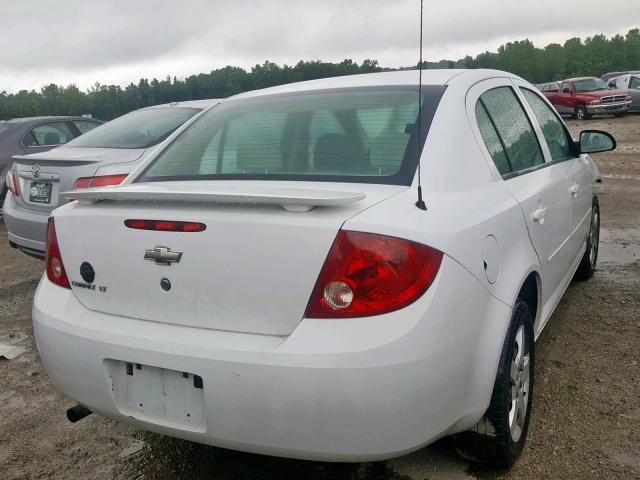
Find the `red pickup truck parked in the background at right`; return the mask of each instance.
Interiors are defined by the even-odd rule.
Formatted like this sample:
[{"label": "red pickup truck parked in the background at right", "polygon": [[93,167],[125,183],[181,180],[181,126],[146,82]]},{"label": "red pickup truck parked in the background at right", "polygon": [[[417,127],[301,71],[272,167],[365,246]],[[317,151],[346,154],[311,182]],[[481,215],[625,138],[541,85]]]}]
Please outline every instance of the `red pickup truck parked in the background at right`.
[{"label": "red pickup truck parked in the background at right", "polygon": [[631,107],[631,96],[623,90],[613,90],[600,78],[570,78],[551,85],[542,92],[560,114],[570,114],[578,120],[592,115],[621,117]]}]

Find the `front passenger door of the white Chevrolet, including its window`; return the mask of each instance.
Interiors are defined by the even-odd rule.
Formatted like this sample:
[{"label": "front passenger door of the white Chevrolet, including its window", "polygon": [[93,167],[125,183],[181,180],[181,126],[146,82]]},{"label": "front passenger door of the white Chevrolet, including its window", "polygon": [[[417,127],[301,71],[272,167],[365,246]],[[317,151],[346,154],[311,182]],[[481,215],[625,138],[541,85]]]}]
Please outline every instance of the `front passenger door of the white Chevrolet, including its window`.
[{"label": "front passenger door of the white Chevrolet, including its window", "polygon": [[556,112],[524,82],[515,82],[531,110],[534,124],[542,134],[540,142],[546,144],[548,163],[567,182],[565,201],[571,205],[570,235],[563,248],[567,250],[569,265],[577,266],[584,251],[591,219],[593,179],[589,160],[580,155],[573,139]]}]

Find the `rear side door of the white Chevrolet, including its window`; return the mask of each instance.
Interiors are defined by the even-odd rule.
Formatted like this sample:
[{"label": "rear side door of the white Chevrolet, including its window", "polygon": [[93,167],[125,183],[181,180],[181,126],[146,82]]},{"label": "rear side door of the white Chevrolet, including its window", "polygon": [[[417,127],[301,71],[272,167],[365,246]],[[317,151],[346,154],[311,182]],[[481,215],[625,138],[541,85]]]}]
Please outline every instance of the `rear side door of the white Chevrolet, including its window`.
[{"label": "rear side door of the white Chevrolet, including its window", "polygon": [[502,178],[501,186],[522,208],[527,233],[540,260],[542,304],[549,305],[562,293],[568,270],[567,250],[563,248],[571,215],[566,178],[547,162],[547,147],[540,143],[510,80],[482,82],[469,95],[477,98],[476,121]]}]

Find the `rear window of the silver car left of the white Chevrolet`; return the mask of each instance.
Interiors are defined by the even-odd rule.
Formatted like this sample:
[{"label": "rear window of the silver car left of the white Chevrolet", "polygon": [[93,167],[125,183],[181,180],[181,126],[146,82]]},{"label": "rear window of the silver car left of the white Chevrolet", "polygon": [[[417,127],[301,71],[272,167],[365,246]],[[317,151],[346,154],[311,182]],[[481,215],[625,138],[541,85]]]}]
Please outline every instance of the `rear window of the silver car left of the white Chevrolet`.
[{"label": "rear window of the silver car left of the white Chevrolet", "polygon": [[136,110],[85,133],[66,146],[148,148],[167,138],[199,111],[199,108],[186,107]]}]

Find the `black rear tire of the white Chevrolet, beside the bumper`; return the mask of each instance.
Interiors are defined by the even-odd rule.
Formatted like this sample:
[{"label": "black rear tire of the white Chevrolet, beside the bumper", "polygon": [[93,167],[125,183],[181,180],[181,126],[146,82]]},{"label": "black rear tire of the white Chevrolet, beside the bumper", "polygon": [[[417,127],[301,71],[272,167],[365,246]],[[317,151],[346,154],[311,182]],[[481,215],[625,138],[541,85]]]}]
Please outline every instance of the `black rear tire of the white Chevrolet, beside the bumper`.
[{"label": "black rear tire of the white Chevrolet, beside the bumper", "polygon": [[[518,345],[517,338],[522,328],[524,350]],[[517,354],[524,352],[523,358],[528,356],[528,388],[522,395],[522,370],[514,370],[514,381],[511,380],[512,363]],[[508,468],[515,463],[520,456],[527,439],[529,430],[529,417],[533,399],[533,367],[535,349],[533,341],[533,320],[529,307],[518,299],[513,309],[511,323],[504,339],[500,363],[496,373],[491,403],[482,419],[469,431],[454,435],[453,439],[458,453],[474,462],[490,465],[495,468]],[[519,383],[519,385],[514,385]],[[514,404],[514,395],[516,403]],[[520,399],[524,399],[524,418],[518,415],[521,412],[517,406],[521,406]],[[514,410],[514,419],[510,420],[510,413]],[[512,424],[518,424],[519,434]],[[514,438],[515,437],[515,438]]]}]

